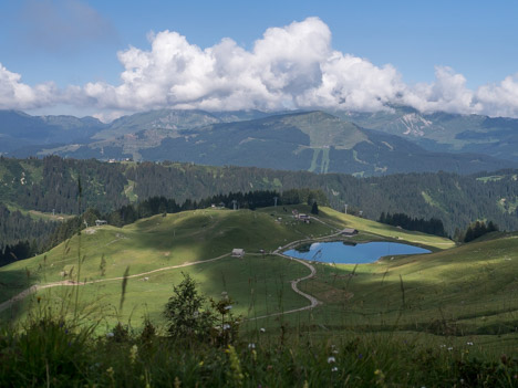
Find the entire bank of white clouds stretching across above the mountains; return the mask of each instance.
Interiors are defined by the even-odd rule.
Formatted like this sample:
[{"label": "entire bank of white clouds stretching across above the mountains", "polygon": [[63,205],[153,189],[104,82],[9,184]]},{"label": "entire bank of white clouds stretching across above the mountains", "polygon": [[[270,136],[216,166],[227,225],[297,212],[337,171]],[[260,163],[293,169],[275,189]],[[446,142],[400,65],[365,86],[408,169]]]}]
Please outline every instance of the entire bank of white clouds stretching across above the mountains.
[{"label": "entire bank of white clouds stretching across above the mountains", "polygon": [[14,102],[34,102],[37,97],[28,96],[38,93],[52,103],[55,93],[58,99],[103,112],[105,119],[111,112],[117,116],[163,107],[374,112],[388,104],[422,112],[518,117],[518,74],[469,90],[462,74],[437,66],[434,82],[408,85],[391,64],[379,66],[333,50],[331,38],[328,25],[318,18],[270,28],[250,50],[228,38],[201,49],[177,32],[162,31],[149,35],[149,50],[131,46],[118,52],[124,67],[118,85],[92,82],[65,91],[55,91],[52,84],[31,88],[3,69],[11,81],[1,81],[0,104],[7,104],[8,94]]}]

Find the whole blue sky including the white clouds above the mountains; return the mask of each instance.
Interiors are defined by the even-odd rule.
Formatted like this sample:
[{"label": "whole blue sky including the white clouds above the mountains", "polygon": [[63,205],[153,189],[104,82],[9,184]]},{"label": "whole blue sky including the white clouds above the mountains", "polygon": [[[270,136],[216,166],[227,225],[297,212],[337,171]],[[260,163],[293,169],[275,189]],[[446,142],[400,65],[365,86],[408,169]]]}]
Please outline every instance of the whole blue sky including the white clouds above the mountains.
[{"label": "whole blue sky including the white clouds above the mountains", "polygon": [[0,108],[518,117],[518,2],[0,2]]}]

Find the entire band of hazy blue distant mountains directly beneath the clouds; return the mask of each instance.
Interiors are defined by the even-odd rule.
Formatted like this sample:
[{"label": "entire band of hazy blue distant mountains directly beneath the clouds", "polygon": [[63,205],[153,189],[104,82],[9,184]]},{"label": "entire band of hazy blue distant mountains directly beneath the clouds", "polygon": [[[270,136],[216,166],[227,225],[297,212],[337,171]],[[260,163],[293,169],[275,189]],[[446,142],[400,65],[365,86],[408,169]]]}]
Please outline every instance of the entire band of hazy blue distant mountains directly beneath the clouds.
[{"label": "entire band of hazy blue distant mountains directly beneath the clouds", "polygon": [[[369,129],[367,129],[369,128]],[[518,119],[410,107],[359,112],[160,109],[96,118],[0,111],[0,153],[178,160],[375,176],[518,165]]]}]

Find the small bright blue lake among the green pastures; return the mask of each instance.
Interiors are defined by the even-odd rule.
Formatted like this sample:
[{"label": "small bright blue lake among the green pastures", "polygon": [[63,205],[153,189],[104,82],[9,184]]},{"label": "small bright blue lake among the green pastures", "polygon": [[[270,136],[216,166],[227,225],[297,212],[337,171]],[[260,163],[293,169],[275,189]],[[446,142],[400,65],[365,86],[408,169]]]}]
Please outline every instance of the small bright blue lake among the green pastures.
[{"label": "small bright blue lake among the green pastures", "polygon": [[353,244],[350,242],[314,242],[297,249],[284,251],[284,254],[303,260],[320,261],[336,264],[373,263],[382,256],[397,254],[431,253],[427,249],[401,244],[397,242],[366,242]]}]

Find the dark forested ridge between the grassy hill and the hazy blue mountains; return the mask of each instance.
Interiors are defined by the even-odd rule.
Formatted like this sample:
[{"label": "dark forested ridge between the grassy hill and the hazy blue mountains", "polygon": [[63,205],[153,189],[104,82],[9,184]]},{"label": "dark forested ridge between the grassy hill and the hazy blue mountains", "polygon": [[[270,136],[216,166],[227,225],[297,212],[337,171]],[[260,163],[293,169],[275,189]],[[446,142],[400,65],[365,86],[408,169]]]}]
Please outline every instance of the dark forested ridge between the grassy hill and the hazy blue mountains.
[{"label": "dark forested ridge between the grassy hill and the hazy blue mountains", "polygon": [[[0,203],[10,209],[63,214],[95,209],[92,217],[107,217],[111,223],[118,224],[151,214],[145,207],[152,205],[145,200],[154,197],[174,200],[179,209],[188,209],[210,206],[208,201],[219,203],[231,192],[246,196],[253,191],[274,191],[286,202],[307,202],[309,190],[313,190],[315,198],[310,199],[319,206],[329,205],[343,211],[346,205],[348,212],[373,220],[380,219],[382,212],[404,213],[411,219],[436,219],[442,221],[444,232],[453,235],[456,229],[466,230],[477,220],[491,220],[501,230],[518,230],[517,177],[518,170],[501,170],[472,176],[437,172],[356,178],[343,174],[318,175],[256,167],[107,164],[55,156],[43,159],[0,157]],[[292,190],[300,188],[308,191]],[[273,205],[271,198],[268,201]],[[258,199],[239,199],[240,207],[262,206],[259,202]],[[166,211],[174,208],[172,203],[164,207]],[[53,223],[6,211],[6,207],[1,209],[1,247],[22,240],[31,243],[33,239],[41,245],[40,242],[49,240],[53,233],[53,241],[62,241],[64,237],[55,235],[58,231]]]}]

